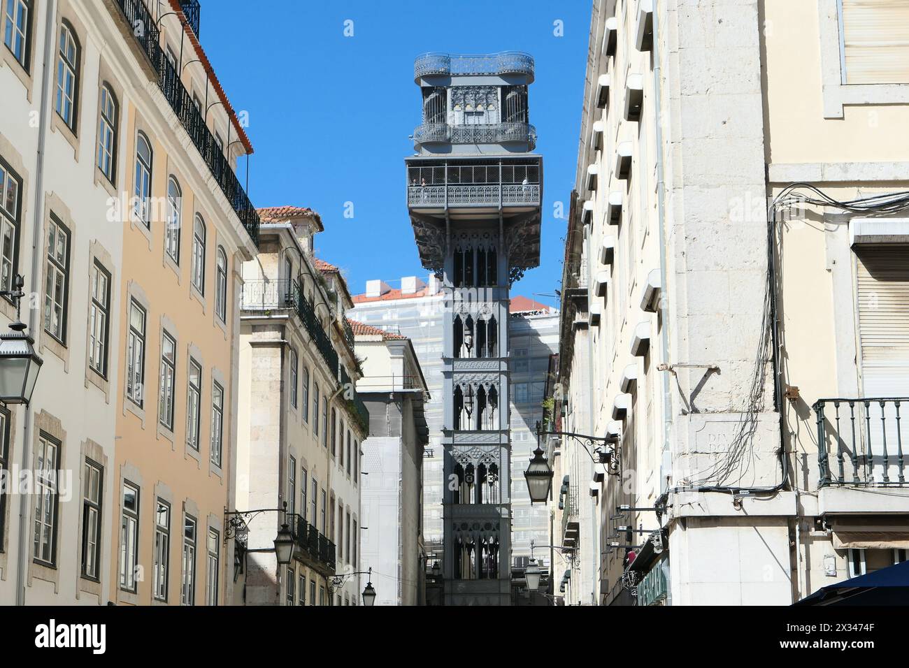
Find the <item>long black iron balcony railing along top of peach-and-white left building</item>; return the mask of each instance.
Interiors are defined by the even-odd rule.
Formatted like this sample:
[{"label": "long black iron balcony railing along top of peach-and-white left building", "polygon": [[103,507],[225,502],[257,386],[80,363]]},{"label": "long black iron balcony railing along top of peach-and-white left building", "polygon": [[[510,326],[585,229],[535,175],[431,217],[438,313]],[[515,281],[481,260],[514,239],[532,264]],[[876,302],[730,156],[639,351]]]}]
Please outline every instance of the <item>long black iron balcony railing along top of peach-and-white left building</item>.
[{"label": "long black iron balcony railing along top of peach-and-white left building", "polygon": [[[227,202],[234,209],[240,223],[243,224],[246,234],[249,234],[253,243],[258,246],[259,214],[256,213],[255,206],[249,201],[246,191],[237,180],[224,152],[215,142],[215,136],[205,125],[205,118],[196,109],[193,98],[183,82],[180,81],[174,65],[171,65],[161,48],[160,31],[155,24],[155,19],[149,14],[142,0],[115,0],[115,2],[130,26],[130,32],[135,35],[136,41],[155,70],[157,85],[164,94],[167,104],[174,110],[181,125],[184,126],[186,134],[189,135],[205,165],[215,177],[215,182],[221,188],[221,192],[225,194]],[[198,35],[198,3],[184,2],[182,5],[189,9],[191,14],[193,11],[191,5],[195,5],[196,23],[193,28]],[[187,20],[190,20],[189,15],[187,15]],[[141,25],[143,29],[134,29],[136,25]]]}]

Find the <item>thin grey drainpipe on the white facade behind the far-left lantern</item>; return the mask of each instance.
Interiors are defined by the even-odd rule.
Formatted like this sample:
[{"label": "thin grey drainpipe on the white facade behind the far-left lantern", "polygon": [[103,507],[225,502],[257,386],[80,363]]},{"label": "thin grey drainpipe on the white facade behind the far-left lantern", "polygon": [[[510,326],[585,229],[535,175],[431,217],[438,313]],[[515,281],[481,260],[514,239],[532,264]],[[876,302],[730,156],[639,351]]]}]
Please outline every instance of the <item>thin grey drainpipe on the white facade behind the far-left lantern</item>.
[{"label": "thin grey drainpipe on the white facade behind the far-left lantern", "polygon": [[[51,76],[51,73],[54,71],[53,68],[53,59],[54,59],[54,29],[56,25],[55,21],[56,16],[56,2],[55,0],[50,0],[47,3],[47,11],[45,13],[45,59],[44,65],[42,65],[42,82],[41,82],[41,106],[39,107],[39,115],[41,118],[41,125],[38,127],[38,154],[36,159],[35,166],[35,224],[32,225],[33,234],[32,234],[32,275],[31,283],[29,284],[32,290],[34,291],[39,283],[39,258],[40,254],[38,253],[38,247],[41,244],[42,238],[42,229],[43,225],[42,220],[44,219],[44,194],[45,194],[45,145],[47,143],[47,125],[50,123],[49,115],[52,113],[49,109],[48,102],[51,95],[51,84],[54,81],[54,77]],[[28,309],[28,330],[32,336],[37,339],[38,336],[35,334],[35,319],[36,319],[37,309],[29,308]],[[25,424],[23,424],[22,430],[22,471],[25,472],[29,469],[29,462],[31,461],[31,453],[28,447],[29,439],[31,438],[31,430],[29,425],[32,423],[32,407],[31,405],[25,406]],[[16,605],[25,605],[25,562],[28,559],[28,545],[26,544],[26,535],[28,533],[28,523],[26,522],[26,515],[28,514],[28,507],[26,505],[27,500],[31,498],[30,494],[19,494],[19,545],[18,545],[18,559],[16,563],[16,573],[15,573],[15,604]]]}]

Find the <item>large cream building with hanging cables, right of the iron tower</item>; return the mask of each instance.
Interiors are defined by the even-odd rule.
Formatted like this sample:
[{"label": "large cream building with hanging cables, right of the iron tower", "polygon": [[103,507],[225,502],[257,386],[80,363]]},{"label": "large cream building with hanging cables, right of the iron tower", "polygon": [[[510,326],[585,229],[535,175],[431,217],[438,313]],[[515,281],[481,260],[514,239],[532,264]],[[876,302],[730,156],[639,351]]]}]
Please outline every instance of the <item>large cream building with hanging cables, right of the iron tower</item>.
[{"label": "large cream building with hanging cables, right of the iron tower", "polygon": [[614,444],[562,444],[598,518],[566,603],[789,604],[904,560],[909,434],[865,400],[909,395],[909,9],[593,12],[560,410]]}]

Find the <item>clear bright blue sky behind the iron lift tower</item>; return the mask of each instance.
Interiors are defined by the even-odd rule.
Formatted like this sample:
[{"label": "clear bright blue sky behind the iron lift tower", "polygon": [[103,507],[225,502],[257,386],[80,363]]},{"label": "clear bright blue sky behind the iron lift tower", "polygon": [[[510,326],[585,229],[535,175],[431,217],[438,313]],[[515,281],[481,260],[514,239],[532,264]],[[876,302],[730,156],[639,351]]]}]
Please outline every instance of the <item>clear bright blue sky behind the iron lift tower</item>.
[{"label": "clear bright blue sky behind the iron lift tower", "polygon": [[[531,123],[544,156],[541,264],[513,294],[552,294],[561,278],[584,94],[589,0],[248,0],[202,4],[202,44],[227,95],[249,114],[249,191],[256,206],[310,206],[325,233],[316,254],[352,294],[381,278],[423,275],[405,205],[407,139],[420,123],[416,55],[534,55]],[[345,21],[353,36],[345,36]],[[563,36],[556,36],[561,21]],[[349,25],[349,24],[348,24]],[[239,37],[239,38],[238,38]],[[243,169],[240,174],[244,179]],[[345,218],[345,203],[354,217]],[[554,304],[552,298],[539,301]]]}]

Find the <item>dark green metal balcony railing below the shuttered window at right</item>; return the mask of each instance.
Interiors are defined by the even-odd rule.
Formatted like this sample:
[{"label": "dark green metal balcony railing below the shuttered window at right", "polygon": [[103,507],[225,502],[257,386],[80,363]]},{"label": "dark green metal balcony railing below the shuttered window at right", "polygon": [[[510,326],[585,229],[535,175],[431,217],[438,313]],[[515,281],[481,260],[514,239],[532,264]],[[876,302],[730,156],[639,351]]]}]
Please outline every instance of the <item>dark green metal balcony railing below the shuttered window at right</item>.
[{"label": "dark green metal balcony railing below the shuttered window at right", "polygon": [[819,399],[820,486],[904,487],[909,397]]}]

